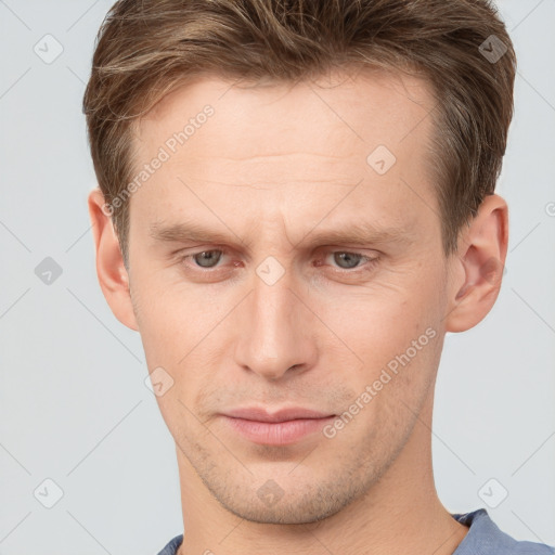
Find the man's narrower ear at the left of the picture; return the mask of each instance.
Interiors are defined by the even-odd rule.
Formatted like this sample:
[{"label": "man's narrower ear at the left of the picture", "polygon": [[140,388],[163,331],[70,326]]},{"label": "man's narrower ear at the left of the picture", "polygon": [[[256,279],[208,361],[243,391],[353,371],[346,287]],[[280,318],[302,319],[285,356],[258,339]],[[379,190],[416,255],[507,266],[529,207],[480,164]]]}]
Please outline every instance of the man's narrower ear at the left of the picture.
[{"label": "man's narrower ear at the left of the picture", "polygon": [[89,216],[96,250],[96,274],[114,315],[127,327],[138,331],[129,292],[129,275],[108,208],[100,189],[93,189],[89,193]]}]

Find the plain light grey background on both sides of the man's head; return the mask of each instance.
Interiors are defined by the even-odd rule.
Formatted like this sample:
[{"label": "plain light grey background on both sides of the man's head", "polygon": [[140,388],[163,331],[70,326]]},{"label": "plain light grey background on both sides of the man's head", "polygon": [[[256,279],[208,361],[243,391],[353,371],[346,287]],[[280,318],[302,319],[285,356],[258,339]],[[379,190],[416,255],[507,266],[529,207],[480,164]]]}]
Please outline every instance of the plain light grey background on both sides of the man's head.
[{"label": "plain light grey background on both sides of the man's head", "polygon": [[[81,99],[111,4],[0,0],[3,555],[150,555],[182,531],[173,442],[144,385],[140,337],[114,318],[94,270]],[[555,2],[500,9],[519,61],[499,183],[509,254],[491,313],[446,339],[435,473],[451,512],[483,506],[515,538],[553,545]],[[63,47],[51,63],[34,51],[55,54],[48,34]],[[50,285],[35,273],[46,257],[62,268]],[[42,504],[55,495],[46,479],[63,490],[52,508]],[[496,508],[483,501],[504,490]]]}]

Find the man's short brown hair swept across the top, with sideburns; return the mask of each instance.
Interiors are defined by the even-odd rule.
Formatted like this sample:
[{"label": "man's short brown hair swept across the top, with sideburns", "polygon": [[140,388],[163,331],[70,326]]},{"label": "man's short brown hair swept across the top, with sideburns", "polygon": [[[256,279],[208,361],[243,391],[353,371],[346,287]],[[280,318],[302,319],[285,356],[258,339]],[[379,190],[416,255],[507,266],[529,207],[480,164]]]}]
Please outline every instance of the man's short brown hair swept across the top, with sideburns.
[{"label": "man's short brown hair swept across the top, with sideburns", "polygon": [[[516,57],[489,0],[117,1],[83,96],[106,203],[131,179],[133,121],[193,76],[294,81],[347,64],[409,69],[433,85],[431,168],[449,256],[494,192],[513,117]],[[111,215],[127,261],[128,203]]]}]

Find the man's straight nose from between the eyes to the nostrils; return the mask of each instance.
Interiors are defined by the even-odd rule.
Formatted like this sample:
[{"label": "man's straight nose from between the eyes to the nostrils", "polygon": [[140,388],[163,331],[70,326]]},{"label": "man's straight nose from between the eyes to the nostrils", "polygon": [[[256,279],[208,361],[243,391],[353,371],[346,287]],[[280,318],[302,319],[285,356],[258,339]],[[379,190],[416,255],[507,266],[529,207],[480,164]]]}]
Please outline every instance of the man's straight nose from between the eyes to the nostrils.
[{"label": "man's straight nose from between the eyes to the nostrils", "polygon": [[272,285],[255,274],[236,321],[236,364],[269,380],[306,372],[317,360],[315,317],[287,274]]}]

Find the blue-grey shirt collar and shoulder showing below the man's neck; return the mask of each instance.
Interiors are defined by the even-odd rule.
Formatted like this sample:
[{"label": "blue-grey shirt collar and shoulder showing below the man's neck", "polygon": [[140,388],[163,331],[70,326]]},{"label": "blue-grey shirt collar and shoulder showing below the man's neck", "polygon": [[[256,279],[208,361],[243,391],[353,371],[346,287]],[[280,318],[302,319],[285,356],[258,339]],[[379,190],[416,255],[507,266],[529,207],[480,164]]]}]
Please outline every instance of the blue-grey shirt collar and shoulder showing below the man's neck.
[{"label": "blue-grey shirt collar and shoulder showing below the man's neck", "polygon": [[[453,555],[555,555],[555,547],[544,543],[519,542],[502,532],[485,508],[451,516],[469,527]],[[176,535],[158,555],[176,555],[182,541],[183,534]]]}]

